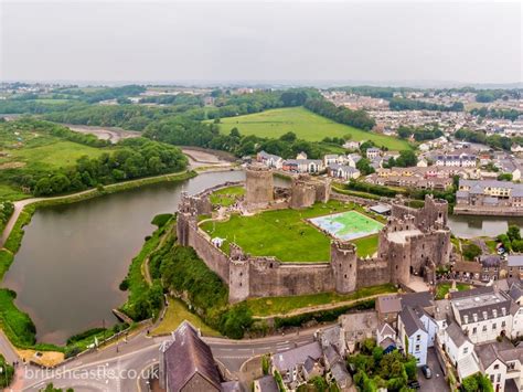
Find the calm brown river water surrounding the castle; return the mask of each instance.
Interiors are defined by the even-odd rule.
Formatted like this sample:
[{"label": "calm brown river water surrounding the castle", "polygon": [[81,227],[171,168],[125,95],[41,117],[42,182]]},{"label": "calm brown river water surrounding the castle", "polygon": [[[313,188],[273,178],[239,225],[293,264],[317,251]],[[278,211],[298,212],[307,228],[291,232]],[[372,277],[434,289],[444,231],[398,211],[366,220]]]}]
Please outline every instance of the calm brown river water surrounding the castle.
[{"label": "calm brown river water surrounding the castle", "polygon": [[[111,308],[126,297],[118,285],[143,237],[153,231],[153,215],[173,212],[182,191],[194,194],[244,179],[241,171],[210,172],[183,182],[41,209],[25,227],[3,286],[18,293],[17,305],[30,314],[40,341],[63,343],[73,333],[104,322],[108,326],[115,322]],[[275,186],[288,186],[274,180]],[[522,218],[448,219],[453,234],[463,237],[503,233],[508,222],[523,227]]]}]

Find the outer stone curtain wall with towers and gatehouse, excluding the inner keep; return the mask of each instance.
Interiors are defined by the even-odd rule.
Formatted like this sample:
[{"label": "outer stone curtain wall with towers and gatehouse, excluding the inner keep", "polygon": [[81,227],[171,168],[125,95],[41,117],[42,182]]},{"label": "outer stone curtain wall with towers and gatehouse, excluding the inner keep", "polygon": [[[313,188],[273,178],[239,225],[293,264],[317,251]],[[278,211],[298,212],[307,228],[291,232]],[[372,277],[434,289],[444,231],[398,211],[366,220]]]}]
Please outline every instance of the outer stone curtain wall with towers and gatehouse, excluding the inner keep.
[{"label": "outer stone curtain wall with towers and gatehouse, excluding the inner keep", "polygon": [[[314,200],[318,192],[325,194],[318,188],[312,187],[312,190]],[[228,285],[231,303],[249,297],[346,294],[385,283],[407,285],[413,272],[427,272],[428,267],[448,262],[450,255],[450,232],[444,229],[446,210],[442,203],[433,200],[426,200],[426,206],[420,210],[393,208],[393,216],[378,234],[376,258],[359,258],[353,244],[340,241],[331,243],[330,263],[281,263],[275,257],[245,254],[235,244],[230,244],[231,254],[226,255],[198,226],[198,215],[207,210],[205,197],[209,198],[209,192],[191,198],[183,195],[178,239],[181,245],[192,246],[207,267]],[[429,221],[431,219],[435,221]],[[391,233],[405,231],[414,231],[405,235],[405,241],[388,237]]]}]

